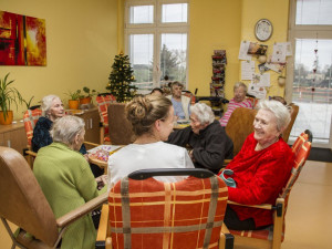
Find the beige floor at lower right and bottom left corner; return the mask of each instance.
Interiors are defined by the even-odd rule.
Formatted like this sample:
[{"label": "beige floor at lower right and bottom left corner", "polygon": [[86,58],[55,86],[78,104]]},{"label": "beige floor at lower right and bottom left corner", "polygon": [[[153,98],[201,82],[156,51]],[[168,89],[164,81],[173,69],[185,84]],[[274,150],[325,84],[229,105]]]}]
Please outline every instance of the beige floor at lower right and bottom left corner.
[{"label": "beige floor at lower right and bottom left corner", "polygon": [[[292,189],[286,220],[282,249],[332,248],[331,163],[307,162]],[[0,248],[11,248],[10,238],[2,222]]]}]

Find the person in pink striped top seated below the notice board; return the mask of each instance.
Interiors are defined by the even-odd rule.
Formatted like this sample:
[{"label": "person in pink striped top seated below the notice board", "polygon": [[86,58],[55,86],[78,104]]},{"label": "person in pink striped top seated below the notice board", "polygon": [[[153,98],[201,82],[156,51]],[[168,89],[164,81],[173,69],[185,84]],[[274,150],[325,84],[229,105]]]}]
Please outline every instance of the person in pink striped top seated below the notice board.
[{"label": "person in pink striped top seated below the notice board", "polygon": [[226,126],[231,113],[238,107],[252,108],[250,100],[246,98],[247,85],[242,82],[237,82],[234,85],[234,98],[228,103],[228,107],[224,116],[219,120],[221,126]]}]

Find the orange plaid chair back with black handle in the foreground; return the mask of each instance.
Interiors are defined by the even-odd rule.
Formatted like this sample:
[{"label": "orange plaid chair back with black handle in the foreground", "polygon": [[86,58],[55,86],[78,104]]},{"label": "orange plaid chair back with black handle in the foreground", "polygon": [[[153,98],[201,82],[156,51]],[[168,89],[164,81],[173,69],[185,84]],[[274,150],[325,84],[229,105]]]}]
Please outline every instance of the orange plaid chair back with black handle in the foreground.
[{"label": "orange plaid chair back with black handle in the foreground", "polygon": [[[152,176],[190,175],[178,183]],[[118,181],[108,195],[106,249],[232,248],[221,232],[228,191],[206,169],[143,169]]]}]

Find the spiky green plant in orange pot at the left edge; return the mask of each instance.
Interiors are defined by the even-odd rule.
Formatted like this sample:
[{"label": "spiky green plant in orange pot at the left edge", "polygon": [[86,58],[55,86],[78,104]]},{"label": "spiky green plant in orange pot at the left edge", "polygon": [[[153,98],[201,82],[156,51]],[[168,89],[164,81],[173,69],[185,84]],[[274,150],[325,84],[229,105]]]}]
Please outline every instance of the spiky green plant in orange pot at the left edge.
[{"label": "spiky green plant in orange pot at the left edge", "polygon": [[13,120],[13,112],[10,108],[11,104],[22,104],[22,96],[20,92],[11,84],[14,82],[8,81],[9,73],[0,79],[0,124],[11,124]]}]

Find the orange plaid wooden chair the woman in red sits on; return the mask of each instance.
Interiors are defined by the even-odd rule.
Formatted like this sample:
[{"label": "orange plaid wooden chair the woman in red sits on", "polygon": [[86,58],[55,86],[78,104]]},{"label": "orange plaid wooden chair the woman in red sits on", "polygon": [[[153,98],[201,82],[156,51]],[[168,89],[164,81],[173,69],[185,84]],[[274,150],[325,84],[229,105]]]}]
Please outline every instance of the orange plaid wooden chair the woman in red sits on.
[{"label": "orange plaid wooden chair the woman in red sits on", "polygon": [[[268,228],[261,230],[230,230],[235,236],[235,246],[246,246],[252,248],[272,248],[280,249],[284,239],[284,215],[288,207],[290,191],[298,179],[311,149],[312,134],[310,131],[302,133],[292,146],[295,154],[294,166],[291,176],[279,195],[276,206],[257,205],[255,208],[264,208],[274,210],[274,221]],[[228,200],[228,204],[236,204]],[[247,206],[247,205],[246,205]],[[250,206],[249,206],[250,207]]]}]

